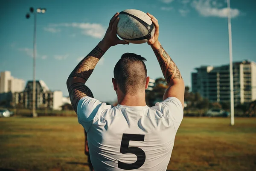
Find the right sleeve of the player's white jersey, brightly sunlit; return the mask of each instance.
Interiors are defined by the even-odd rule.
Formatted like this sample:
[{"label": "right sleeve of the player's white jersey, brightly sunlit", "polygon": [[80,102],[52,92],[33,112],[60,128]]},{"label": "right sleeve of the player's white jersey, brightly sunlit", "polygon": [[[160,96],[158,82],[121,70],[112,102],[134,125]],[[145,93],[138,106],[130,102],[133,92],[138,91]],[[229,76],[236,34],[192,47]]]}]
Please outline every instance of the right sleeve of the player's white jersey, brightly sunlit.
[{"label": "right sleeve of the player's white jersey, brightly sunlit", "polygon": [[165,118],[170,118],[177,131],[183,119],[183,107],[180,100],[176,97],[168,97],[166,100],[163,100],[163,102],[156,103],[153,108],[161,111]]}]

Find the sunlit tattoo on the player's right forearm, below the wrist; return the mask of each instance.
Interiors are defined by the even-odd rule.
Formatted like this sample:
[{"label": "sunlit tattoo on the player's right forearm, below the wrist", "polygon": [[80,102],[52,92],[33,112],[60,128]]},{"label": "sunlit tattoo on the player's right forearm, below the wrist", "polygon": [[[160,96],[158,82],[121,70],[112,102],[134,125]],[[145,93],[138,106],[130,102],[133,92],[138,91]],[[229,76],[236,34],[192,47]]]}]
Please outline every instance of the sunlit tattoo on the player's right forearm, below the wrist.
[{"label": "sunlit tattoo on the player's right forearm, below the wrist", "polygon": [[174,79],[182,79],[180,70],[173,62],[169,54],[167,54],[167,52],[163,49],[163,46],[160,46],[159,49],[155,50],[154,54],[157,57],[163,72],[163,76],[165,77],[168,85],[172,85],[172,80]]}]

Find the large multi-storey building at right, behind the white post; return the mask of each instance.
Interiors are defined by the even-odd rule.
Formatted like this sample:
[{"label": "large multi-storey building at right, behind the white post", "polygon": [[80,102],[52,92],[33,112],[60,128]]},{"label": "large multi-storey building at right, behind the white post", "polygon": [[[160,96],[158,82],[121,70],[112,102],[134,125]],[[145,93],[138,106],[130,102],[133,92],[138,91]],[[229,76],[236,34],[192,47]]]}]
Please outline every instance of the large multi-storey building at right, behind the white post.
[{"label": "large multi-storey building at right, behind the white post", "polygon": [[[192,73],[192,92],[199,92],[211,102],[230,103],[229,65],[201,66]],[[256,63],[233,63],[234,103],[256,100]]]}]

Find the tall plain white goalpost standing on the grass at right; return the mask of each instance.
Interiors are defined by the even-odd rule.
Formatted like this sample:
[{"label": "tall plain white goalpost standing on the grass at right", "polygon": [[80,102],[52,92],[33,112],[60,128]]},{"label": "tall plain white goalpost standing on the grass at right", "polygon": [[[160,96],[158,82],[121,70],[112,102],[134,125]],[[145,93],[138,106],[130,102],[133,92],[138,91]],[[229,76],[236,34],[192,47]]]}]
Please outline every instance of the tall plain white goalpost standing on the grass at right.
[{"label": "tall plain white goalpost standing on the grass at right", "polygon": [[230,0],[227,0],[227,22],[228,22],[228,40],[229,40],[229,60],[230,60],[230,124],[235,124],[234,117],[234,83],[233,83],[233,54],[232,54],[232,32],[231,32],[231,11]]}]

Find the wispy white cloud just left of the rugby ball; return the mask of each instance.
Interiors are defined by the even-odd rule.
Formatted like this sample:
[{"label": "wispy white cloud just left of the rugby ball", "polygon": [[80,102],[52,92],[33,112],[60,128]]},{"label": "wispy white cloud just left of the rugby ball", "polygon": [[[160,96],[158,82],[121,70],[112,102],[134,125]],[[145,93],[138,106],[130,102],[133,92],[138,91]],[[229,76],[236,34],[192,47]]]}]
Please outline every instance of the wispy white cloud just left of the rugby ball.
[{"label": "wispy white cloud just left of the rugby ball", "polygon": [[81,29],[81,33],[93,38],[101,39],[104,37],[106,28],[98,23],[60,23],[51,24],[50,27],[73,27]]}]

